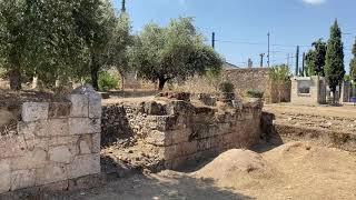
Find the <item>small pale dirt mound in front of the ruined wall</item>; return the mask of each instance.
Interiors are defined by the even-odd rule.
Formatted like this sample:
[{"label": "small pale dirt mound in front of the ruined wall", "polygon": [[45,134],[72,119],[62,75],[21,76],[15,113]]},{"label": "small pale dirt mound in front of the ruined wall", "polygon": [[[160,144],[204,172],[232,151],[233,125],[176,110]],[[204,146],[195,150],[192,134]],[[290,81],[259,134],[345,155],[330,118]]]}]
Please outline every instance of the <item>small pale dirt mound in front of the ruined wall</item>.
[{"label": "small pale dirt mound in front of the ruined wall", "polygon": [[260,154],[234,149],[229,150],[192,176],[200,179],[212,179],[222,187],[250,188],[260,180],[278,179],[279,172]]}]

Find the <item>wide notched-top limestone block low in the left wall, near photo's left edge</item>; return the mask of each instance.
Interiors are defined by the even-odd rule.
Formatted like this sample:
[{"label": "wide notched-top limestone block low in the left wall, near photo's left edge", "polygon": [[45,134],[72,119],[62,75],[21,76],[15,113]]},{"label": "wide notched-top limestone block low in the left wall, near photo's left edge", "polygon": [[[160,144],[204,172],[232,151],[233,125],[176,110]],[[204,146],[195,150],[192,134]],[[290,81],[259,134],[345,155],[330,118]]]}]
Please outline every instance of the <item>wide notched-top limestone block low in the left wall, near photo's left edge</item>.
[{"label": "wide notched-top limestone block low in the left wall, near photo's left edge", "polygon": [[36,148],[33,151],[28,151],[23,157],[11,159],[12,170],[26,170],[43,168],[47,164],[47,152],[43,149]]}]

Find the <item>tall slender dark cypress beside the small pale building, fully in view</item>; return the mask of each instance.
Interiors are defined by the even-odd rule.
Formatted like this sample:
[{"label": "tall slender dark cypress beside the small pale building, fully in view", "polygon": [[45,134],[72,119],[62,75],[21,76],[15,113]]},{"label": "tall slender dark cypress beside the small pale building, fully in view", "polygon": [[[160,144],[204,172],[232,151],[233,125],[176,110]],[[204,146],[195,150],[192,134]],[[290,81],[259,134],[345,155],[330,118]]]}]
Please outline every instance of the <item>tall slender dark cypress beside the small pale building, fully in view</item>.
[{"label": "tall slender dark cypress beside the small pale building, fully in view", "polygon": [[342,41],[342,30],[335,20],[330,28],[330,38],[327,42],[325,78],[333,92],[333,103],[335,103],[336,88],[342,83],[345,76],[344,67],[344,44]]}]

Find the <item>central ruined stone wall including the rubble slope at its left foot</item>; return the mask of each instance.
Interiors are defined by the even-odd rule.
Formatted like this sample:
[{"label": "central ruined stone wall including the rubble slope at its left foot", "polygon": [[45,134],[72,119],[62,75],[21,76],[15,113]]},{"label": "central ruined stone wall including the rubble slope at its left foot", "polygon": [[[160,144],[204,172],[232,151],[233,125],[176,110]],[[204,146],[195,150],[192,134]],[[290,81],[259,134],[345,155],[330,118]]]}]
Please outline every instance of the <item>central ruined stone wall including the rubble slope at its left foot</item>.
[{"label": "central ruined stone wall including the rubble slope at its left foot", "polygon": [[250,148],[259,142],[260,100],[221,106],[201,97],[206,96],[190,98],[189,93],[168,92],[150,102],[103,107],[103,149],[115,142],[132,148],[121,154],[108,148],[103,153],[116,162],[159,171],[180,169],[226,150]]}]

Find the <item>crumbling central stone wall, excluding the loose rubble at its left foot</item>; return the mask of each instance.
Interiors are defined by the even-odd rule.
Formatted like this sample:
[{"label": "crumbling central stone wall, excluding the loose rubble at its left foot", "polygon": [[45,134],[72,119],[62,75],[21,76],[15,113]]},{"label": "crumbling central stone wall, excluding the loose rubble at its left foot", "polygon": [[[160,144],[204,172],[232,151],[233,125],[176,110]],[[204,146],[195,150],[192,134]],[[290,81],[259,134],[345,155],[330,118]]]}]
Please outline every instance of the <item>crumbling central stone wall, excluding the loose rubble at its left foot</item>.
[{"label": "crumbling central stone wall, excluding the loose rubble at its left foot", "polygon": [[[146,149],[155,151],[151,154],[159,157],[162,169],[178,169],[228,149],[256,144],[260,139],[261,108],[260,101],[219,108],[184,100],[108,106],[103,116],[111,118],[103,118],[102,127],[110,128],[102,137],[120,137],[120,131],[129,130]],[[120,112],[116,117],[106,114],[115,113],[112,110]],[[122,118],[125,127],[118,123]]]}]

